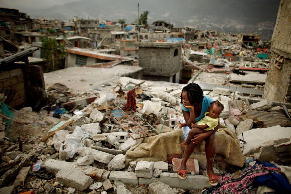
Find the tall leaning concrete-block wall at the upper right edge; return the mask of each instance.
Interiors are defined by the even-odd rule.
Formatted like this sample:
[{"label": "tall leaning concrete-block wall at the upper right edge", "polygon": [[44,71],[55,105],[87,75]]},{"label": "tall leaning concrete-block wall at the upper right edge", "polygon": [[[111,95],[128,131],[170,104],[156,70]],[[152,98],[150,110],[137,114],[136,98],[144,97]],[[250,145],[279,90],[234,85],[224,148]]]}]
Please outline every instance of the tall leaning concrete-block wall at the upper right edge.
[{"label": "tall leaning concrete-block wall at the upper right edge", "polygon": [[263,97],[291,103],[291,0],[281,0]]}]

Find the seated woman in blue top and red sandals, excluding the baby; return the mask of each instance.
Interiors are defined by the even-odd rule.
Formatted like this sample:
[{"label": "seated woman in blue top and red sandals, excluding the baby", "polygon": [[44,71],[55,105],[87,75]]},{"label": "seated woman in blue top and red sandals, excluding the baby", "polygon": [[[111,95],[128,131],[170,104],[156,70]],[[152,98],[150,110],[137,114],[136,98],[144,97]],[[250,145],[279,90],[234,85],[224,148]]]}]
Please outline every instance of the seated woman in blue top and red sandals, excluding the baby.
[{"label": "seated woman in blue top and red sandals, excluding the baby", "polygon": [[[210,103],[213,102],[211,97],[203,95],[203,91],[200,86],[196,83],[190,83],[182,89],[181,93],[181,109],[185,119],[185,123],[181,124],[179,122],[179,127],[183,127],[183,138],[186,140],[189,131],[191,130],[191,124],[196,123],[204,117],[205,112],[208,111]],[[191,108],[185,108],[191,107]],[[214,133],[218,130],[218,125],[214,128],[214,130],[207,131],[205,133],[196,134],[193,139],[191,139],[192,143],[188,144],[185,147],[183,158],[181,161],[180,170],[178,171],[178,175],[181,179],[187,177],[186,170],[186,162],[191,153],[193,152],[196,144],[201,143],[203,140],[205,141],[205,152],[206,152],[206,160],[207,160],[207,175],[208,180],[211,185],[217,185],[218,178],[217,175],[214,174],[212,164],[215,155],[215,147],[214,147]]]}]

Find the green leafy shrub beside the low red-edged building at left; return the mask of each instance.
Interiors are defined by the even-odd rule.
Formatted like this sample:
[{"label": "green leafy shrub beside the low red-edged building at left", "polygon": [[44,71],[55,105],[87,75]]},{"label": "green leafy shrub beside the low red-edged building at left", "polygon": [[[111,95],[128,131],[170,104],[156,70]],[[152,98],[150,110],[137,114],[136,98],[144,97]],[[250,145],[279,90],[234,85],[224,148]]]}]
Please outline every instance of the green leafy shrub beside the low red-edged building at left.
[{"label": "green leafy shrub beside the low red-edged building at left", "polygon": [[65,45],[57,42],[55,38],[48,36],[42,38],[42,53],[48,66],[46,72],[63,69],[65,67]]}]

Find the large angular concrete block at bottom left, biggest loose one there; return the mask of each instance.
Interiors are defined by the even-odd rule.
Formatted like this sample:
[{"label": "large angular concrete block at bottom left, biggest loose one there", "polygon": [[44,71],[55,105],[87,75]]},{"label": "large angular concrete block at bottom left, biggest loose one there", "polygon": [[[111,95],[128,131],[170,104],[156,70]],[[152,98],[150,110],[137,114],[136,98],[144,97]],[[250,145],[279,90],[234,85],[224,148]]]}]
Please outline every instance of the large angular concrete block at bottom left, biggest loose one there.
[{"label": "large angular concrete block at bottom left, biggest loose one there", "polygon": [[60,170],[56,175],[56,181],[67,187],[76,188],[79,191],[87,189],[93,182],[93,179],[86,176],[82,170],[66,169]]}]

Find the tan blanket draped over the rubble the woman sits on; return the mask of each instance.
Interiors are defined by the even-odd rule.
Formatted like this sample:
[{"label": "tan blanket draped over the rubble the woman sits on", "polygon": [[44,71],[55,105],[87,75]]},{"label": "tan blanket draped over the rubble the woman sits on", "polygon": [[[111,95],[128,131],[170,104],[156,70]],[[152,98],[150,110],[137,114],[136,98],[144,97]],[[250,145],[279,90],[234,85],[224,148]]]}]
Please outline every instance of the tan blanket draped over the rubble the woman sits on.
[{"label": "tan blanket draped over the rubble the woman sits on", "polygon": [[[156,128],[159,130],[161,125]],[[125,155],[125,163],[131,161],[167,161],[167,156],[183,154],[179,145],[183,142],[182,130],[164,126],[159,135],[138,139]],[[228,164],[242,167],[245,162],[236,134],[230,129],[218,129],[215,135],[216,153],[226,158]],[[197,145],[194,152],[204,151],[205,142]]]}]

